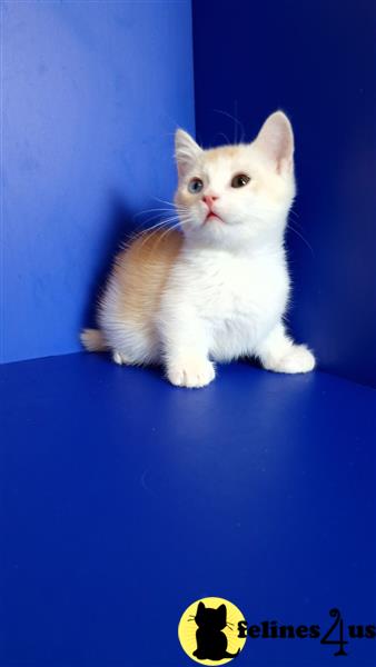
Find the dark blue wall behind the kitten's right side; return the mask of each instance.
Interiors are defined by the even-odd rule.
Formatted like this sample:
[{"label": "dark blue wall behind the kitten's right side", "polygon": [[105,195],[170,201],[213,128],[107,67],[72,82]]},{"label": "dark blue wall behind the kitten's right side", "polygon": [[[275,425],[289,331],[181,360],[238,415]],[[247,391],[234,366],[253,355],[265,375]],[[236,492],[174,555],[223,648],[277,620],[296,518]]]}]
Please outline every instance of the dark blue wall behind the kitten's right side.
[{"label": "dark blue wall behind the kitten's right side", "polygon": [[290,327],[323,369],[376,384],[375,3],[192,7],[197,137],[219,145],[244,130],[250,140],[275,109],[289,115],[298,179]]}]

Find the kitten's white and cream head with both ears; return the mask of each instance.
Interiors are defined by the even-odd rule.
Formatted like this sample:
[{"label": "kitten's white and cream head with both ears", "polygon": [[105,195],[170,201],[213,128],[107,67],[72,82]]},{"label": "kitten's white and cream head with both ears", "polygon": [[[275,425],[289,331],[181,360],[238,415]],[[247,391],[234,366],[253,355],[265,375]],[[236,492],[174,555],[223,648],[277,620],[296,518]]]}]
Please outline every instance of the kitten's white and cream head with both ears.
[{"label": "kitten's white and cream head with both ears", "polygon": [[281,111],[251,143],[202,150],[177,130],[176,160],[175,202],[188,238],[234,249],[281,240],[295,195],[294,135]]}]

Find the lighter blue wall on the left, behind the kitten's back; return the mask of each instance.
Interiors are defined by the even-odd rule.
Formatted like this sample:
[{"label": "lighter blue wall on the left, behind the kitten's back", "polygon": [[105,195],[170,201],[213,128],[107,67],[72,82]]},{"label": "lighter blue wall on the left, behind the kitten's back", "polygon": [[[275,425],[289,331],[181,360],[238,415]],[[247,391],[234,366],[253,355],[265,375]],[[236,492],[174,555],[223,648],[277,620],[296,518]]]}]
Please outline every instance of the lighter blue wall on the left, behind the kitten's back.
[{"label": "lighter blue wall on the left, behind the kitten's back", "polygon": [[190,2],[3,2],[1,360],[79,350],[135,211],[194,131]]}]

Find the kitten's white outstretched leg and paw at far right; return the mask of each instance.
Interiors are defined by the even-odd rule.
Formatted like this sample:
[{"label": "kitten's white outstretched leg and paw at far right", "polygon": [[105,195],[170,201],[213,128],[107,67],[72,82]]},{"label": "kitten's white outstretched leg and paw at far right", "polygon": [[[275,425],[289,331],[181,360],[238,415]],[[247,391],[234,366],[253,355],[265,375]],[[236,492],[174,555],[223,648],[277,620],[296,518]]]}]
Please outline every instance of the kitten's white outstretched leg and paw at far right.
[{"label": "kitten's white outstretched leg and paw at far right", "polygon": [[264,368],[275,372],[309,372],[315,368],[315,357],[305,345],[296,345],[280,322],[255,350]]}]

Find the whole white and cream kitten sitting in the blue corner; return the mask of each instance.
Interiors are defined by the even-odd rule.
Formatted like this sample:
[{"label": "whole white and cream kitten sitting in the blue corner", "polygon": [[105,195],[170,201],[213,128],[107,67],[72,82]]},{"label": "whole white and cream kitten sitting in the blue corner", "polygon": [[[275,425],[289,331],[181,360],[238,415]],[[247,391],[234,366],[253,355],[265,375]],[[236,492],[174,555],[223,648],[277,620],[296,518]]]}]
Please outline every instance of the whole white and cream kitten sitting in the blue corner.
[{"label": "whole white and cream kitten sitting in the blue corner", "polygon": [[258,357],[264,368],[307,372],[314,355],[283,321],[289,293],[284,248],[295,195],[294,136],[277,111],[250,145],[202,150],[176,132],[181,231],[141,235],[117,257],[88,350],[118,364],[162,362],[172,385],[205,387],[216,361]]}]

